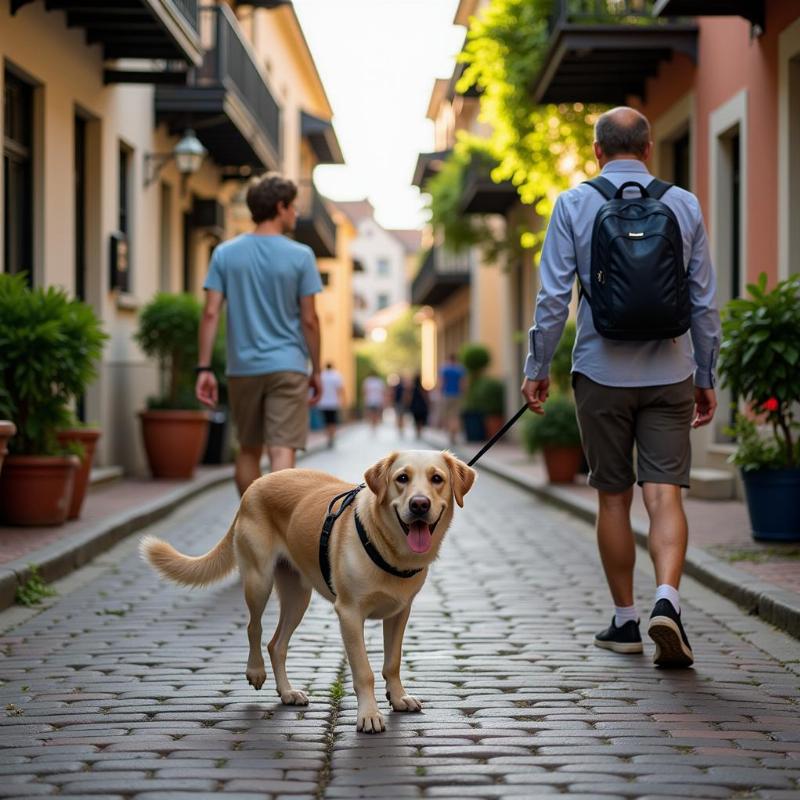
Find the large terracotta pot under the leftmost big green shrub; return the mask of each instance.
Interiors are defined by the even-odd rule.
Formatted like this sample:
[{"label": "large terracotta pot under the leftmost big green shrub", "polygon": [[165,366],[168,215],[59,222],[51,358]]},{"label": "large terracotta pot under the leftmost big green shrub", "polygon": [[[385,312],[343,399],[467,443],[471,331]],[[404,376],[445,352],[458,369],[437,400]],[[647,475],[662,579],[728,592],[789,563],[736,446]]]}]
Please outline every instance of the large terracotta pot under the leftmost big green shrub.
[{"label": "large terracotta pot under the leftmost big green shrub", "polygon": [[10,525],[61,525],[72,500],[77,456],[8,456],[0,473],[0,517]]}]

